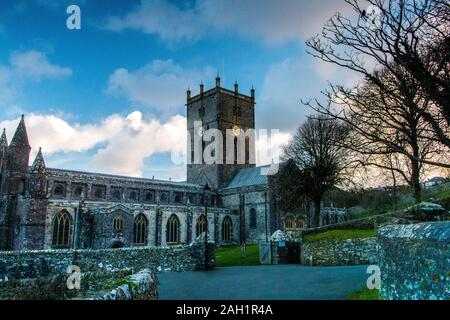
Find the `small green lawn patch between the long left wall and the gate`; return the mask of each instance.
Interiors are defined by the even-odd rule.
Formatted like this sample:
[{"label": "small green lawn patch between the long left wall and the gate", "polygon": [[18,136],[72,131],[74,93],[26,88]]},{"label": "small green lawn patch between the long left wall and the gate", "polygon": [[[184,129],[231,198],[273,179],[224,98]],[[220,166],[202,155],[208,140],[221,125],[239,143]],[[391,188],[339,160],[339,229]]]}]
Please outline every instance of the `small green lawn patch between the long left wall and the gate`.
[{"label": "small green lawn patch between the long left wall and the gate", "polygon": [[232,267],[232,266],[255,266],[259,265],[259,246],[248,245],[245,257],[242,257],[241,247],[223,247],[216,249],[216,266]]}]

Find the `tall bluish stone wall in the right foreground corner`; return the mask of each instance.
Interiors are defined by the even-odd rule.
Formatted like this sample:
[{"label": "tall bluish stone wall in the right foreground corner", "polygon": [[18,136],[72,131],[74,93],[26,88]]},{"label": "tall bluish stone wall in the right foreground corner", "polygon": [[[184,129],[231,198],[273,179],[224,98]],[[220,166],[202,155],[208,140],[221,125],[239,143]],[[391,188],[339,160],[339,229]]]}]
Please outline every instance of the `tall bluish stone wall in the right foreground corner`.
[{"label": "tall bluish stone wall in the right foreground corner", "polygon": [[383,299],[450,299],[450,222],[388,225],[378,240]]}]

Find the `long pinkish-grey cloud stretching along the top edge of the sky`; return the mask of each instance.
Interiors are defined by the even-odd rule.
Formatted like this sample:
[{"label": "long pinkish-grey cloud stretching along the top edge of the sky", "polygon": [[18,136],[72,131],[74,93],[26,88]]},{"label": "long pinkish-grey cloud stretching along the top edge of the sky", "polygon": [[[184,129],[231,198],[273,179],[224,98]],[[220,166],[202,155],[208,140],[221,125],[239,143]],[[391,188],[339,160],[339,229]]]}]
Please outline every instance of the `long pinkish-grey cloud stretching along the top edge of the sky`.
[{"label": "long pinkish-grey cloud stretching along the top edge of the sky", "polygon": [[339,0],[197,0],[189,7],[167,0],[142,0],[128,14],[110,17],[106,28],[139,30],[168,41],[230,32],[277,44],[310,37],[334,13],[349,10]]}]

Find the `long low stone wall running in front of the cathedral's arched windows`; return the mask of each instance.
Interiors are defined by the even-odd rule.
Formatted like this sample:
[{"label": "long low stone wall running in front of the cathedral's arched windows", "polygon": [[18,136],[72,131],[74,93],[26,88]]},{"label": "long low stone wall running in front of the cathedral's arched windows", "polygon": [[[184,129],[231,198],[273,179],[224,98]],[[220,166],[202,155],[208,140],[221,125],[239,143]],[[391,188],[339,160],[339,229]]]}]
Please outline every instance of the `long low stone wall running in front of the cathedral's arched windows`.
[{"label": "long low stone wall running in front of the cathedral's arched windows", "polygon": [[[214,260],[210,249],[209,257]],[[212,264],[212,262],[211,262]],[[192,271],[204,266],[204,246],[139,247],[101,250],[47,250],[0,252],[0,279],[33,279],[66,274],[70,265],[81,272],[132,269]]]}]

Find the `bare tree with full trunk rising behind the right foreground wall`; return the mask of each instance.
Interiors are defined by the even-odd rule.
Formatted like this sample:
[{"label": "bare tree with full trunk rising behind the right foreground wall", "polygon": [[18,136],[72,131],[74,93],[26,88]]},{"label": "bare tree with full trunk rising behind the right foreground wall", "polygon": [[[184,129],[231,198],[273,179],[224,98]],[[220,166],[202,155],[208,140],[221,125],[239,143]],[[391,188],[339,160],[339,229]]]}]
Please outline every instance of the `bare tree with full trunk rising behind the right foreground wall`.
[{"label": "bare tree with full trunk rising behind the right foreground wall", "polygon": [[388,69],[379,71],[383,88],[370,80],[351,90],[331,85],[327,105],[318,101],[306,104],[351,128],[347,139],[338,143],[358,153],[361,165],[400,174],[420,202],[425,165],[449,166],[449,150],[434,139],[431,125],[424,119],[422,110],[429,109],[432,102],[415,78],[401,66],[391,65],[390,69],[402,77]]}]

